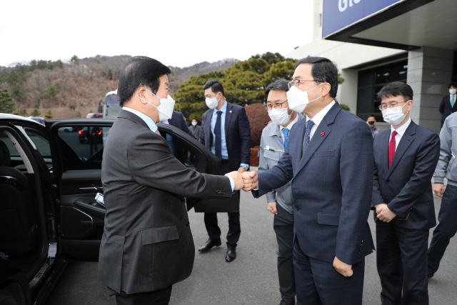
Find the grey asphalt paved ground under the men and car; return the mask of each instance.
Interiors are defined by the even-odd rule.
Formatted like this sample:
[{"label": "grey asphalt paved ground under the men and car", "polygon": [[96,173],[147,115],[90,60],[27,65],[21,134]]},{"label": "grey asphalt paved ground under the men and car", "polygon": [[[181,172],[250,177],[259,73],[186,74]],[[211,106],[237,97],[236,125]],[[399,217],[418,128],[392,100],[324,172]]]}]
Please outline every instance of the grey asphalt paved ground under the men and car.
[{"label": "grey asphalt paved ground under the men and car", "polygon": [[[441,199],[435,197],[436,213]],[[206,241],[203,214],[189,212],[196,249]],[[227,232],[227,216],[219,214],[223,234]],[[369,218],[373,231],[373,218]],[[241,194],[241,239],[237,258],[224,261],[223,245],[207,254],[196,251],[194,271],[185,281],[176,284],[170,304],[175,305],[277,305],[280,301],[276,271],[276,237],[273,214],[266,211],[264,198],[253,199]],[[431,230],[431,234],[432,234]],[[375,236],[373,231],[373,237]],[[431,238],[431,236],[430,236]],[[430,304],[457,304],[457,243],[451,241],[440,270],[429,281]],[[116,304],[97,280],[97,263],[74,262],[54,289],[48,305]],[[380,304],[381,291],[376,272],[376,254],[367,256],[363,304]]]}]

